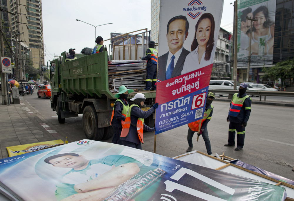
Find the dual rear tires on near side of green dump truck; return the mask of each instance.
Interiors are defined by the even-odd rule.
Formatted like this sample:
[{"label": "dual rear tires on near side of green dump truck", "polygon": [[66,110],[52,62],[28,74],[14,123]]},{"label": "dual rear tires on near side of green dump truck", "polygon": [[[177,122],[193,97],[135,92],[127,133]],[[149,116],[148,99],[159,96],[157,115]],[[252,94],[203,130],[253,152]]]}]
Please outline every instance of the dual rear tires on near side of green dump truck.
[{"label": "dual rear tires on near side of green dump truck", "polygon": [[104,128],[98,128],[98,118],[93,106],[88,105],[83,110],[83,129],[88,139],[101,140]]}]

